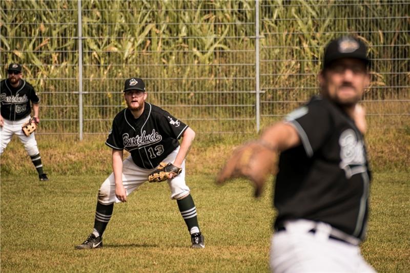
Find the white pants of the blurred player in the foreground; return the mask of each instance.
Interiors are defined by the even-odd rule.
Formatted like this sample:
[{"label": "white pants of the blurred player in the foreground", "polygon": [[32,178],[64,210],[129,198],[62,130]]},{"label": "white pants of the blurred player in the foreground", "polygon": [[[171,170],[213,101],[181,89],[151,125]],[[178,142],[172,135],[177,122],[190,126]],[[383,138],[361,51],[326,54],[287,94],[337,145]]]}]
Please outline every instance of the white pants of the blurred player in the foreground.
[{"label": "white pants of the blurred player in the foreground", "polygon": [[320,223],[315,233],[311,229],[312,221],[296,220],[272,236],[273,272],[376,272],[361,256],[359,246],[329,238],[329,224]]}]

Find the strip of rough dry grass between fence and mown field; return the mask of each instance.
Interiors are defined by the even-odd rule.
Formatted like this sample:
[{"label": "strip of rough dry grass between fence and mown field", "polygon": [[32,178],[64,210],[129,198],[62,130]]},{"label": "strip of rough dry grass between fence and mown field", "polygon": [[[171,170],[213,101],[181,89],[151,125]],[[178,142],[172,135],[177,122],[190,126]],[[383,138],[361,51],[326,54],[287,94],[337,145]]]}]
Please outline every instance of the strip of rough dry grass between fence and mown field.
[{"label": "strip of rough dry grass between fence and mown field", "polygon": [[[111,149],[104,144],[106,137],[102,134],[92,135],[78,141],[76,136],[37,135],[36,139],[46,172],[57,175],[108,175],[111,172]],[[255,137],[255,134],[197,136],[188,156],[188,164],[191,165],[188,172],[214,175],[236,146]],[[407,131],[371,129],[366,135],[366,142],[374,171],[410,172],[410,134]],[[2,176],[35,173],[22,143],[15,136],[3,153],[1,163]],[[203,164],[208,167],[201,167]]]}]

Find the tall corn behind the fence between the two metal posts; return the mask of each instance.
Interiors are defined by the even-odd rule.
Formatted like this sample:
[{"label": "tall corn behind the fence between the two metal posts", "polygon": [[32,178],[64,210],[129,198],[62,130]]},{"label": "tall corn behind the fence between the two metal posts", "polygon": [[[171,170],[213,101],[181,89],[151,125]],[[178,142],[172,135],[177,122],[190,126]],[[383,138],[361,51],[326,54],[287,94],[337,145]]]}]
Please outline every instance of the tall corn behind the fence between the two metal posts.
[{"label": "tall corn behind the fence between the two metal posts", "polygon": [[[232,99],[235,94],[204,92],[218,86],[236,90],[234,77],[241,73],[240,66],[219,65],[238,60],[232,52],[241,47],[239,39],[247,39],[238,33],[252,34],[252,25],[241,25],[241,20],[252,18],[247,1],[99,1],[83,7],[84,61],[89,64],[84,76],[90,90],[108,82],[106,95],[96,94],[90,103],[119,105],[121,96],[114,91],[120,91],[124,79],[131,76],[147,79],[151,102],[175,108],[176,115],[183,117],[220,116],[205,107],[215,103],[216,96],[221,102],[237,103]],[[254,48],[249,38],[247,47]],[[251,81],[247,89],[253,86]],[[96,118],[109,120],[113,114],[106,108],[97,111]]]}]

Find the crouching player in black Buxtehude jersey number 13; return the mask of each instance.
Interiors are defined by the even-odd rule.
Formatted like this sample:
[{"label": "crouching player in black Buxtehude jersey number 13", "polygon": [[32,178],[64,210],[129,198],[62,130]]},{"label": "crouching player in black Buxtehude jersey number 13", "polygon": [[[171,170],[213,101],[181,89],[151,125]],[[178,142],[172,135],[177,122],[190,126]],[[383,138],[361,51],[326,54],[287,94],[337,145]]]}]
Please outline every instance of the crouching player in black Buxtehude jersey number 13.
[{"label": "crouching player in black Buxtehude jersey number 13", "polygon": [[[128,195],[146,182],[160,162],[181,167],[180,174],[171,174],[168,185],[171,199],[176,199],[182,218],[191,234],[192,248],[203,248],[196,207],[185,183],[185,158],[195,132],[179,119],[146,102],[145,83],[140,78],[125,81],[127,108],[114,118],[106,144],[112,148],[113,173],[98,191],[94,230],[77,249],[101,247],[102,236],[111,219],[114,202],[127,202]],[[178,139],[182,137],[179,145]],[[131,153],[124,162],[123,150]]]}]

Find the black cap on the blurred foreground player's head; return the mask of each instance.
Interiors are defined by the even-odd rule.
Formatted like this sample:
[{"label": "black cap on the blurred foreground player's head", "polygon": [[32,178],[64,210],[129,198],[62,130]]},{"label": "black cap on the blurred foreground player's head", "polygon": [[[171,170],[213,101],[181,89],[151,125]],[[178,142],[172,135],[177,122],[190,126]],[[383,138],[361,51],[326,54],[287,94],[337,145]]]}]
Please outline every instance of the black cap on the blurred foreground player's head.
[{"label": "black cap on the blurred foreground player's head", "polygon": [[332,40],[327,44],[323,56],[323,68],[329,67],[332,61],[341,58],[361,59],[366,66],[370,66],[367,58],[367,46],[353,36],[343,36]]}]

